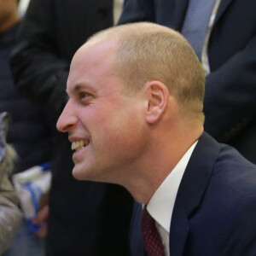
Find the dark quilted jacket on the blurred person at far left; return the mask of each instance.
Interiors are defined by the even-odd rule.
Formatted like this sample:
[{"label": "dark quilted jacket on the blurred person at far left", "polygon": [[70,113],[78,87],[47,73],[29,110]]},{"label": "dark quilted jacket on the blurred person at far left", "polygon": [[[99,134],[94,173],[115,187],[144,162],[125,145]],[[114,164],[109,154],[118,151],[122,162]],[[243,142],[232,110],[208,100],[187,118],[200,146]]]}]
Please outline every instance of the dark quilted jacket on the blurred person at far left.
[{"label": "dark quilted jacket on the blurred person at far left", "polygon": [[14,172],[49,161],[53,145],[53,120],[14,86],[9,57],[19,24],[0,33],[0,113],[11,116],[7,141],[19,155]]}]

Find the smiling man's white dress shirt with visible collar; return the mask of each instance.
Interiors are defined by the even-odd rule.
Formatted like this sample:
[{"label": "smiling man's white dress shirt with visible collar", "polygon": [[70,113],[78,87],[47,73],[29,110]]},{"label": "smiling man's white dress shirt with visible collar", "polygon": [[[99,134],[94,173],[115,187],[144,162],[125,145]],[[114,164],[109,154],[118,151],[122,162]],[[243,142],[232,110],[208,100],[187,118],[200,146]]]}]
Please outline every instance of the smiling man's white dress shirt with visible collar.
[{"label": "smiling man's white dress shirt with visible collar", "polygon": [[148,213],[155,220],[156,228],[160,233],[166,256],[170,256],[169,234],[177,189],[197,142],[198,141],[183,155],[183,158],[179,160],[177,166],[173,168],[172,172],[170,172],[163,183],[160,184],[160,187],[154,192],[154,195],[148,202]]}]

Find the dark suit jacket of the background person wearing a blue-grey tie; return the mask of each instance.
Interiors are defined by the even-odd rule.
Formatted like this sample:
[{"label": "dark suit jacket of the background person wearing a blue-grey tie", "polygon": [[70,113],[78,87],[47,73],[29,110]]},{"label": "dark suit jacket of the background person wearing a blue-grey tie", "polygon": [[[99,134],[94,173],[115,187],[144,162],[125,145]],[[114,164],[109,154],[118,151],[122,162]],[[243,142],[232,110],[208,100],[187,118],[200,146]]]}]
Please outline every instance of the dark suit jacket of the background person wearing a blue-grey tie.
[{"label": "dark suit jacket of the background person wearing a blue-grey tie", "polygon": [[[189,0],[126,0],[119,24],[151,21],[181,31]],[[208,44],[205,130],[256,163],[256,1],[222,0]]]}]

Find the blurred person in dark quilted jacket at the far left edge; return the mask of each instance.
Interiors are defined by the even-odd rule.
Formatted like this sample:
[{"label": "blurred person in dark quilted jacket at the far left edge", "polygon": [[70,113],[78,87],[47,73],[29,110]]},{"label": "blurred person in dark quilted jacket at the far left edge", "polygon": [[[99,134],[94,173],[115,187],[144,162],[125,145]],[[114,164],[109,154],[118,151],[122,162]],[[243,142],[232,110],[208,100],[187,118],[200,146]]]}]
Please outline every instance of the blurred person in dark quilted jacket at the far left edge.
[{"label": "blurred person in dark quilted jacket at the far left edge", "polygon": [[[11,121],[8,143],[18,154],[14,173],[49,161],[53,146],[54,120],[34,102],[22,96],[13,84],[9,56],[20,26],[17,0],[0,0],[0,112],[8,112]],[[44,255],[44,240],[28,230],[23,221],[7,255]]]}]

